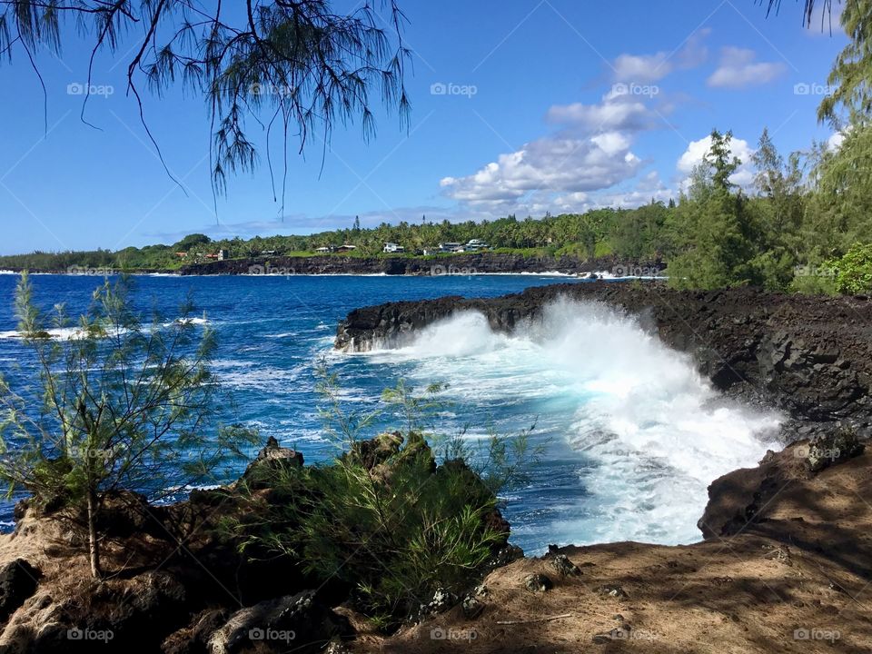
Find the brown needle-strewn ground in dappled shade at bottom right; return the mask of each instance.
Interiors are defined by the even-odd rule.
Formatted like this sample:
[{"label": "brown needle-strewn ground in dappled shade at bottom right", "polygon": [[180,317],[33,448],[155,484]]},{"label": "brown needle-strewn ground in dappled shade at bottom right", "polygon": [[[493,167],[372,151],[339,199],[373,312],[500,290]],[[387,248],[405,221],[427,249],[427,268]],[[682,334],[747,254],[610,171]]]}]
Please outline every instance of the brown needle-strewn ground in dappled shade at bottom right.
[{"label": "brown needle-strewn ground in dappled shade at bottom right", "polygon": [[[872,454],[811,479],[791,456],[778,455],[783,483],[735,535],[560,550],[577,578],[548,557],[519,560],[485,580],[477,619],[451,609],[388,639],[369,632],[352,651],[872,651]],[[525,588],[538,573],[552,590]]]}]

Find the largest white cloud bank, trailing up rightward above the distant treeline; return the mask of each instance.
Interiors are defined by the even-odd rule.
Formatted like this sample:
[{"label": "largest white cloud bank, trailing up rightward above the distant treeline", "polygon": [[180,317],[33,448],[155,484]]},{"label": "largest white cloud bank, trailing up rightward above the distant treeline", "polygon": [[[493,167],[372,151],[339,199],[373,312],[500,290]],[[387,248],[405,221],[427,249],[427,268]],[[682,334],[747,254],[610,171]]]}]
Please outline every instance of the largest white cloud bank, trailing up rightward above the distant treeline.
[{"label": "largest white cloud bank, trailing up rightward above the distant treeline", "polygon": [[[679,50],[657,54],[621,54],[612,62],[614,83],[596,104],[556,104],[546,114],[558,132],[500,154],[475,173],[444,177],[442,193],[473,211],[544,213],[583,211],[591,206],[668,200],[672,193],[659,177],[647,175],[638,188],[623,189],[643,168],[633,153],[636,136],[663,126],[669,109],[651,82],[701,64],[707,55],[700,30]],[[617,189],[617,190],[615,190]]]}]

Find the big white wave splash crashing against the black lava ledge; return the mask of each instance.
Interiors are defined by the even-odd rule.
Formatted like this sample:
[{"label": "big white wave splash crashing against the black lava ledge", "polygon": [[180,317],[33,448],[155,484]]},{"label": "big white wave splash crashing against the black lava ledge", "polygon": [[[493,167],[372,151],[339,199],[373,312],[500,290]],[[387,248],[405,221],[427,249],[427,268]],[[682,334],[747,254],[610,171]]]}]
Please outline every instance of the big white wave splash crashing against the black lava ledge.
[{"label": "big white wave splash crashing against the black lava ledge", "polygon": [[780,416],[720,397],[688,356],[598,303],[556,302],[511,335],[461,312],[365,356],[414,362],[413,381],[446,381],[484,411],[527,411],[519,422],[532,407],[542,431],[568,441],[580,499],[540,525],[555,541],[699,540],[708,484],[778,448]]}]

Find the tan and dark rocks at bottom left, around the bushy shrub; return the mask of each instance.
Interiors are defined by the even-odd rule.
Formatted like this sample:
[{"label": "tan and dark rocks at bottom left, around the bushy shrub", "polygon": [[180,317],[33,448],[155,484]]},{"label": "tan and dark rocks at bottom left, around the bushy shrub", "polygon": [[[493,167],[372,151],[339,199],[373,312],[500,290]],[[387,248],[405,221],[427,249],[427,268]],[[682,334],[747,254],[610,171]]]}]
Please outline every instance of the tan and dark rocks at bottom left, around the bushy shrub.
[{"label": "tan and dark rocks at bottom left, around the bushy shrub", "polygon": [[[372,479],[389,489],[392,478],[404,479],[416,467],[427,480],[449,479],[472,495],[492,498],[462,461],[437,465],[417,433],[358,441],[344,456],[362,461]],[[189,500],[169,506],[152,506],[130,492],[111,495],[99,523],[104,580],[90,576],[76,511],[20,504],[15,533],[0,536],[0,654],[309,654],[328,646],[341,652],[353,629],[336,609],[357,606],[352,581],[316,576],[301,555],[255,538],[262,530],[269,536],[300,528],[296,522],[277,523],[282,513],[272,510],[305,500],[287,494],[288,488],[302,487],[282,490],[270,481],[306,477],[311,471],[302,471],[302,465],[301,452],[271,438],[228,487],[195,490]],[[425,486],[422,481],[416,487],[418,499]],[[321,489],[306,488],[309,500],[317,500]],[[500,534],[492,561],[517,559],[517,549],[506,544],[509,524],[500,511],[493,508],[480,520],[482,529]],[[356,542],[349,547],[361,549]],[[379,550],[372,540],[366,548],[382,565],[391,561],[393,552]],[[468,572],[471,590],[484,569]],[[457,603],[451,593],[445,598],[441,609]]]}]

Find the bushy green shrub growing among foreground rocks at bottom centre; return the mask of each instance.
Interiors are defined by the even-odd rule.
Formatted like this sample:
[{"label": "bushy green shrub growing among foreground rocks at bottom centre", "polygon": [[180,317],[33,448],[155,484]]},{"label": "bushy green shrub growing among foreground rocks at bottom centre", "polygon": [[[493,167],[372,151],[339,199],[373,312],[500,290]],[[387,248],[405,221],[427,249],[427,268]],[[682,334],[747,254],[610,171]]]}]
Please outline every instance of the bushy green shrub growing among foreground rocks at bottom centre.
[{"label": "bushy green shrub growing among foreground rocks at bottom centre", "polygon": [[[342,583],[381,627],[416,615],[436,590],[471,589],[507,545],[496,490],[539,456],[530,432],[492,434],[473,469],[461,458],[472,454],[461,438],[424,430],[443,406],[435,397],[441,387],[415,395],[401,381],[385,391],[404,431],[372,440],[360,437],[372,413],[344,411],[326,373],[321,390],[326,430],[341,451],[322,465],[278,471],[260,520],[245,528],[245,546],[292,556],[316,580]],[[439,443],[439,464],[428,439]]]}]

